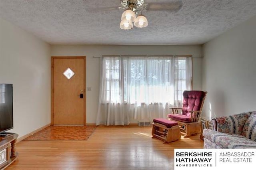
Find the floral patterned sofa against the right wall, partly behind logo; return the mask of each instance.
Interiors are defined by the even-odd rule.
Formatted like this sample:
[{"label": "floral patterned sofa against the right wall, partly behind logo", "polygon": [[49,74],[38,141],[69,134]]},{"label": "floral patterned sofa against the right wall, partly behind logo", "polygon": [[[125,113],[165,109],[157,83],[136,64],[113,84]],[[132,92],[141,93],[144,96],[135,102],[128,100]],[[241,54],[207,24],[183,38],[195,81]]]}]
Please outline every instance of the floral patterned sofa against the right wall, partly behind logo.
[{"label": "floral patterned sofa against the right wall, partly behind logo", "polygon": [[204,148],[256,148],[256,111],[212,119],[204,129]]}]

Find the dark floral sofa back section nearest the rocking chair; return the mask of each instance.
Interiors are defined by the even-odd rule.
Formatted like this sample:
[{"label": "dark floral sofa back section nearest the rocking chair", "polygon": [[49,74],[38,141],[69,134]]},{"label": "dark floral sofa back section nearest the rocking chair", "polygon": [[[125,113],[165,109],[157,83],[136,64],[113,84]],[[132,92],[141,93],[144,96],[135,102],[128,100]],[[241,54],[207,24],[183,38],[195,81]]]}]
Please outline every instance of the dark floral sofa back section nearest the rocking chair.
[{"label": "dark floral sofa back section nearest the rocking chair", "polygon": [[244,123],[250,117],[251,113],[246,112],[225,117],[214,117],[218,122],[217,131],[229,134],[242,134]]}]

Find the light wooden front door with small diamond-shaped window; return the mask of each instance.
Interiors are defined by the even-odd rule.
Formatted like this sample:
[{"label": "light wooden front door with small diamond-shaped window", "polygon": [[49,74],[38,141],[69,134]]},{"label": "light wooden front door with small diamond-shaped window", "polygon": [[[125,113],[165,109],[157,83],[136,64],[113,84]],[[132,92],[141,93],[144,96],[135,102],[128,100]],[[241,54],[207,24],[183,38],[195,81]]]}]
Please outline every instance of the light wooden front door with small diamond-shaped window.
[{"label": "light wooden front door with small diamond-shaped window", "polygon": [[85,57],[52,57],[52,125],[85,125]]}]

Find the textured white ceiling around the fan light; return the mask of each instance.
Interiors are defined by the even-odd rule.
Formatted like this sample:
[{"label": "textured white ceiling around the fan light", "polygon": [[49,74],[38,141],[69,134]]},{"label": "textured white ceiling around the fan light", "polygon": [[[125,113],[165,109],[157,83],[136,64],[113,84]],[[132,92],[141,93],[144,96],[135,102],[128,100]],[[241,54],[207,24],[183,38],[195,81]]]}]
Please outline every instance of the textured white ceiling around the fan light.
[{"label": "textured white ceiling around the fan light", "polygon": [[256,0],[183,0],[178,12],[143,11],[146,28],[121,30],[123,10],[100,10],[113,6],[120,0],[0,0],[0,17],[50,44],[187,45],[256,15]]}]

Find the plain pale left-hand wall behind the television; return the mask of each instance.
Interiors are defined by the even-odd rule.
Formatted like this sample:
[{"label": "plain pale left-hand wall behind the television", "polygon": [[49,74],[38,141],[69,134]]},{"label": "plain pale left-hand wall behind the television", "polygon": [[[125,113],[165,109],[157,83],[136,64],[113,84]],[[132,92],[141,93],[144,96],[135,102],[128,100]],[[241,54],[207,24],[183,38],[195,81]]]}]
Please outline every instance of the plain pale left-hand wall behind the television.
[{"label": "plain pale left-hand wall behind the television", "polygon": [[0,18],[0,83],[13,84],[15,132],[28,134],[50,123],[50,45]]}]

